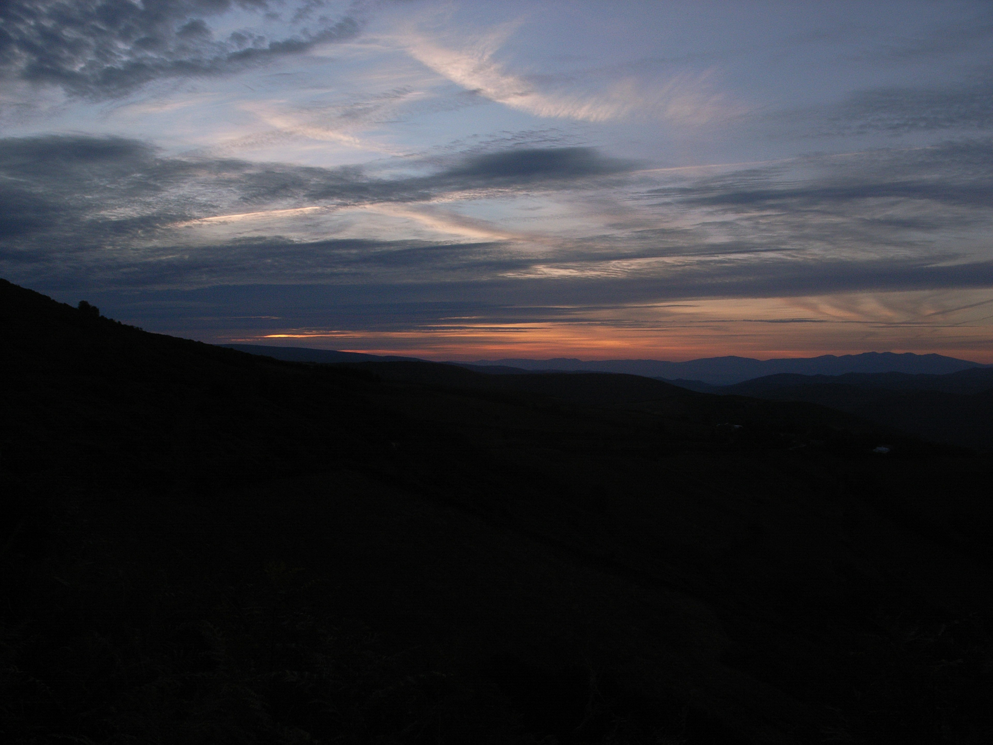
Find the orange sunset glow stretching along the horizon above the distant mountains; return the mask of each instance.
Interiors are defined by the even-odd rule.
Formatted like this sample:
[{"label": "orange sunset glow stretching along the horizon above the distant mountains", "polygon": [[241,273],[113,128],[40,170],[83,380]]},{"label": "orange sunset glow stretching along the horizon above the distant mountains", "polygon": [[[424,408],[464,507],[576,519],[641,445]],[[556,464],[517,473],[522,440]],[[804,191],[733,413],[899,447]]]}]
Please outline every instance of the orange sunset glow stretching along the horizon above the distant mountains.
[{"label": "orange sunset glow stretching along the horizon above the distant mountains", "polygon": [[935,293],[686,301],[612,309],[588,319],[487,323],[462,317],[405,330],[272,329],[232,334],[223,341],[286,340],[318,349],[438,361],[564,357],[680,362],[727,355],[771,359],[912,352],[991,364],[993,316],[986,316],[993,300],[987,291],[975,295],[958,292],[956,302]]}]

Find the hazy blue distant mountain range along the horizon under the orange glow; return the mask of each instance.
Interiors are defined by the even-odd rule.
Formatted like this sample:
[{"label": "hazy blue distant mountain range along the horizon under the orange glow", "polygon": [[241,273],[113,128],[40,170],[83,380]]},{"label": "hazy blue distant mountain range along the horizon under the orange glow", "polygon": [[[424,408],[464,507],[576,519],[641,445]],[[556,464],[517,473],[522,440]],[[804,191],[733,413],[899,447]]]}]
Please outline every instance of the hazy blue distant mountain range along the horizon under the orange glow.
[{"label": "hazy blue distant mountain range along the horizon under the orange glow", "polygon": [[[269,347],[249,344],[224,345],[255,355],[266,355],[277,360],[310,363],[358,363],[411,361],[411,357],[364,355],[357,352],[314,350],[304,347]],[[711,357],[685,363],[661,360],[591,360],[572,358],[552,360],[478,360],[473,363],[451,362],[480,373],[628,373],[656,377],[694,390],[709,391],[710,386],[734,385],[756,377],[783,373],[801,375],[841,375],[846,373],[908,373],[947,374],[971,368],[989,368],[968,360],[957,360],[943,355],[895,354],[893,352],[866,352],[861,355],[821,355],[811,358],[781,358],[753,360],[747,357]],[[703,383],[702,385],[700,383]],[[715,391],[716,392],[716,391]]]}]

